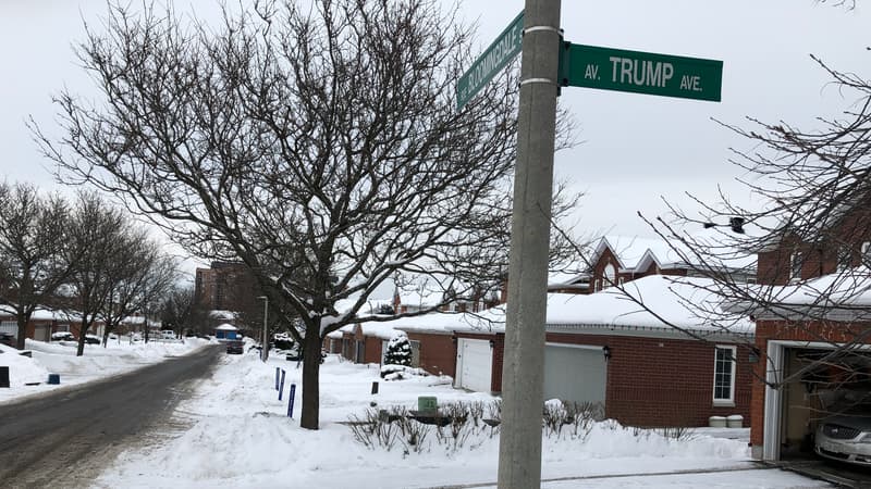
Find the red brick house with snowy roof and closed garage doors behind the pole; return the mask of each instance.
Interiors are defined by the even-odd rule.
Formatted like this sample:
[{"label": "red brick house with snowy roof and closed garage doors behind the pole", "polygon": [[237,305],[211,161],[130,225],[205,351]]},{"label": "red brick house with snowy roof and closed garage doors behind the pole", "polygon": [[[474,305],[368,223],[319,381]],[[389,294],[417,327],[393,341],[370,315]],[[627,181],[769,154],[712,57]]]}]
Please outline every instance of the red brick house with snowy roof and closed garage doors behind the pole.
[{"label": "red brick house with snowy roof and closed garage doors behind the pole", "polygon": [[[699,288],[710,286],[698,278],[636,280],[633,293],[677,328],[616,291],[549,294],[545,399],[601,402],[606,416],[633,426],[703,426],[710,416],[736,414],[749,418],[753,325],[746,319],[721,325],[719,317],[704,322],[688,312],[685,301],[714,300]],[[490,324],[456,331],[458,387],[501,391],[504,324]],[[489,372],[482,374],[480,365],[489,365]]]}]

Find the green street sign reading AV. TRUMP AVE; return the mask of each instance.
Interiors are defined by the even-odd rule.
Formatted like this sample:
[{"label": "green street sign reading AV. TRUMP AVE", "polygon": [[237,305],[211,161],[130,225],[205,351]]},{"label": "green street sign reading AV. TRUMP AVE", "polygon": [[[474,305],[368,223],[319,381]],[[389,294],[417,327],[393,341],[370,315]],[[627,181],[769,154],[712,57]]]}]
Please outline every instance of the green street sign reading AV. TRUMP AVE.
[{"label": "green street sign reading AV. TRUMP AVE", "polygon": [[720,101],[723,62],[563,43],[563,86]]}]

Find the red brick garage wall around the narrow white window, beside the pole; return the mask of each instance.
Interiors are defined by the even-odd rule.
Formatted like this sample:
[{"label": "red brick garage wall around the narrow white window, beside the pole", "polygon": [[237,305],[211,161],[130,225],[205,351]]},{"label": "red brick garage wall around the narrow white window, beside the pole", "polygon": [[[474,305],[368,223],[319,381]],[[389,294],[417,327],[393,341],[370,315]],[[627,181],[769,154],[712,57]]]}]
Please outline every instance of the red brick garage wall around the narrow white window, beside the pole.
[{"label": "red brick garage wall around the narrow white window, beside the pole", "polygon": [[[631,426],[707,426],[710,416],[750,417],[752,364],[750,349],[739,346],[735,406],[713,405],[714,347],[728,342],[549,333],[549,342],[605,346],[608,364],[605,414]],[[503,343],[493,352],[500,368],[493,390],[501,390]],[[496,384],[499,372],[499,384]],[[746,422],[745,422],[746,423]]]}]

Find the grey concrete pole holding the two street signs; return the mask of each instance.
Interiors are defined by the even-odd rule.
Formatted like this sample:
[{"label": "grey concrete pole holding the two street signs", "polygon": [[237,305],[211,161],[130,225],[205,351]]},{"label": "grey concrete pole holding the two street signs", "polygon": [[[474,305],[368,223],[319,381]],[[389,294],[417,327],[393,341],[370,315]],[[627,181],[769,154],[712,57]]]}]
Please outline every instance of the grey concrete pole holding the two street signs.
[{"label": "grey concrete pole holding the two street signs", "polygon": [[526,0],[502,368],[499,487],[541,486],[548,251],[561,0]]}]

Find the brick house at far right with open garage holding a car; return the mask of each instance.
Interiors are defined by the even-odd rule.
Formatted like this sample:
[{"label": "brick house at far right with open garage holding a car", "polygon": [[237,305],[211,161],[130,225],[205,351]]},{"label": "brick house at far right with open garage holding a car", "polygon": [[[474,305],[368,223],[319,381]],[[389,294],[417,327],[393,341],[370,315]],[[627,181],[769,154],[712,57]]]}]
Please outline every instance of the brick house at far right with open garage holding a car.
[{"label": "brick house at far right with open garage holding a car", "polygon": [[871,227],[861,208],[821,229],[812,242],[788,233],[758,254],[756,319],[761,361],[755,375],[750,442],[756,459],[812,451],[826,398],[871,375]]}]

